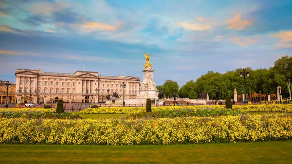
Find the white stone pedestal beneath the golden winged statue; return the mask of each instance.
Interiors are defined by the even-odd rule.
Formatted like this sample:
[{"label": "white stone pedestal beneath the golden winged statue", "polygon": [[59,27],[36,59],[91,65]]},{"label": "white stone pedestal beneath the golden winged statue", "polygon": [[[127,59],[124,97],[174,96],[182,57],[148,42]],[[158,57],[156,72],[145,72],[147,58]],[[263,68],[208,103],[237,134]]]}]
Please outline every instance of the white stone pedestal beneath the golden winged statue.
[{"label": "white stone pedestal beneath the golden winged statue", "polygon": [[156,88],[155,82],[153,80],[153,72],[151,67],[147,67],[143,72],[143,81],[140,83],[139,95],[137,99],[157,99],[158,90]]}]

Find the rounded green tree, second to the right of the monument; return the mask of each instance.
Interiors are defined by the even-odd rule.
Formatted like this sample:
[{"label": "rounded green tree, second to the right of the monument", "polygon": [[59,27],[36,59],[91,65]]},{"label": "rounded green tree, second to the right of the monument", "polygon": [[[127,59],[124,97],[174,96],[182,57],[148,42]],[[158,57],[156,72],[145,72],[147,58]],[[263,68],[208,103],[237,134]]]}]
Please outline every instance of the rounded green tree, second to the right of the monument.
[{"label": "rounded green tree, second to the right of the monument", "polygon": [[179,96],[180,97],[188,97],[189,99],[197,99],[198,93],[197,93],[198,85],[193,80],[188,81],[183,85],[183,87],[179,90]]}]

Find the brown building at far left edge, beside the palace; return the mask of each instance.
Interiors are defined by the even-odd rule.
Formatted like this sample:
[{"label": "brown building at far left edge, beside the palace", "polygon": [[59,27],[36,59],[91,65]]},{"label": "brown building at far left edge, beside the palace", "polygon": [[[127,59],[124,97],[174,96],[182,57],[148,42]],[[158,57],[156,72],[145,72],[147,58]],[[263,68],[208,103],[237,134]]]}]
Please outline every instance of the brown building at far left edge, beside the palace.
[{"label": "brown building at far left edge, beside the palace", "polygon": [[[7,88],[5,88],[5,83],[7,83],[7,81],[0,80],[0,103],[6,103]],[[11,84],[11,87],[8,88],[8,103],[15,103],[16,84],[11,82],[9,83]]]}]

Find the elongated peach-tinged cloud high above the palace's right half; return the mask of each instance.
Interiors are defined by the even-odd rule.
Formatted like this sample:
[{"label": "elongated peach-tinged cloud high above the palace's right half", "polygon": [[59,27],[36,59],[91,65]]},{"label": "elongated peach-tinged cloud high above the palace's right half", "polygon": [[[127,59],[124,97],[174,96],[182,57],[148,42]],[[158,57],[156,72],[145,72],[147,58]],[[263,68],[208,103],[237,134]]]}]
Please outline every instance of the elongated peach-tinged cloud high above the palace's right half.
[{"label": "elongated peach-tinged cloud high above the palace's right half", "polygon": [[86,22],[84,24],[71,24],[73,29],[78,29],[82,33],[91,33],[94,31],[115,31],[118,27],[100,22]]}]

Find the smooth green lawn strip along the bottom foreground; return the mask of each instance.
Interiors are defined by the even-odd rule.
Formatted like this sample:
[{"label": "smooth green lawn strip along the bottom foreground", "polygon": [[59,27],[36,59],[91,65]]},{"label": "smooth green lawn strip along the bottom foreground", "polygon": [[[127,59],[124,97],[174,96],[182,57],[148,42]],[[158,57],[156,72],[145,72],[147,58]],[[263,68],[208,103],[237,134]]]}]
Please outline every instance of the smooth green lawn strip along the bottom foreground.
[{"label": "smooth green lawn strip along the bottom foreground", "polygon": [[0,145],[0,163],[291,164],[292,141],[158,146]]}]

